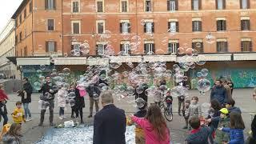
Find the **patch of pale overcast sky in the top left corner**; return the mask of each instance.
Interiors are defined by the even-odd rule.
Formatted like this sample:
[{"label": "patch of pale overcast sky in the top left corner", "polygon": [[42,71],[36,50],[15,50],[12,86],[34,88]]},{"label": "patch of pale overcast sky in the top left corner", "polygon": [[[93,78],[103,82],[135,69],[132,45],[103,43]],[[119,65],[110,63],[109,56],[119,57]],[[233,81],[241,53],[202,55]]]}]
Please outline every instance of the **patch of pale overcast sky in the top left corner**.
[{"label": "patch of pale overcast sky in the top left corner", "polygon": [[18,9],[18,6],[22,3],[22,0],[2,0],[0,5],[0,33],[2,29],[9,22],[11,16]]}]

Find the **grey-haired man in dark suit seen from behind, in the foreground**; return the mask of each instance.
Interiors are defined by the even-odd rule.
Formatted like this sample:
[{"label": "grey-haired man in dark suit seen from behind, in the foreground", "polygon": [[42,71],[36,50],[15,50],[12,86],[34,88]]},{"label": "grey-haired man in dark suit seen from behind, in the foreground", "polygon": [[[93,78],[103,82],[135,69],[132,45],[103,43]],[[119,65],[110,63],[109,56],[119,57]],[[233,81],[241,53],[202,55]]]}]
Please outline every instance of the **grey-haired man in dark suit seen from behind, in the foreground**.
[{"label": "grey-haired man in dark suit seen from behind, in the foreground", "polygon": [[126,114],[114,106],[109,90],[102,92],[102,106],[94,116],[94,144],[125,144]]}]

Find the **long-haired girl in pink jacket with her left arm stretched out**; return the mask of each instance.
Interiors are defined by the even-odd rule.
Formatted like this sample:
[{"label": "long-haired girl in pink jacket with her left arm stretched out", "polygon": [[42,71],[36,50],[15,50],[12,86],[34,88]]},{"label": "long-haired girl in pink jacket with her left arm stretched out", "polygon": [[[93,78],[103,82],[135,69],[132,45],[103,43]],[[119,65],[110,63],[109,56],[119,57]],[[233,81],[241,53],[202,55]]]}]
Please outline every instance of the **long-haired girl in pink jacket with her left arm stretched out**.
[{"label": "long-haired girl in pink jacket with her left arm stretched out", "polygon": [[151,105],[145,118],[131,116],[132,121],[144,130],[146,144],[170,144],[170,131],[157,105]]}]

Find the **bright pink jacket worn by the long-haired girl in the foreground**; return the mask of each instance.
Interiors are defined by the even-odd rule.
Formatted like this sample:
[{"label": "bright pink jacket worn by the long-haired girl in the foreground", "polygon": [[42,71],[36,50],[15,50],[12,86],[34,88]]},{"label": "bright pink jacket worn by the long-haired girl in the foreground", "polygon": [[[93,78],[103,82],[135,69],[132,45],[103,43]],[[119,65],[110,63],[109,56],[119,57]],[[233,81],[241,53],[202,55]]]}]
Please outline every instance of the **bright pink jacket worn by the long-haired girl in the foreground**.
[{"label": "bright pink jacket worn by the long-haired girl in the foreground", "polygon": [[170,144],[170,134],[168,129],[166,129],[166,139],[159,142],[158,134],[153,131],[153,126],[146,118],[138,118],[133,116],[131,119],[144,130],[146,144]]}]

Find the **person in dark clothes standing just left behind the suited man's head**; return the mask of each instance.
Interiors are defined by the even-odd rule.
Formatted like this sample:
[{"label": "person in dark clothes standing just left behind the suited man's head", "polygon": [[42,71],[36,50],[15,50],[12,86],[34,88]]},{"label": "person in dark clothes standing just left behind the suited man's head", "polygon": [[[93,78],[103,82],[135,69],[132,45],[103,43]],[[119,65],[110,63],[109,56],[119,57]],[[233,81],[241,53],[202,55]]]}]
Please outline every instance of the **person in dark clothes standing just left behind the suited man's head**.
[{"label": "person in dark clothes standing just left behind the suited man's head", "polygon": [[97,84],[94,84],[94,86],[88,86],[86,88],[86,91],[88,92],[90,97],[90,114],[88,118],[91,118],[93,117],[94,103],[95,103],[96,113],[98,112],[98,97],[99,97],[99,94],[101,94],[101,91],[98,89]]}]

